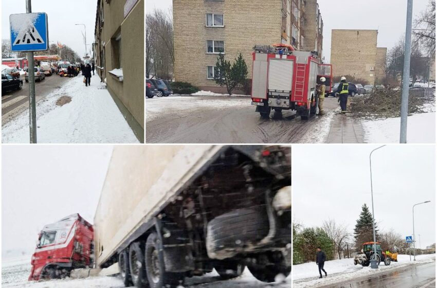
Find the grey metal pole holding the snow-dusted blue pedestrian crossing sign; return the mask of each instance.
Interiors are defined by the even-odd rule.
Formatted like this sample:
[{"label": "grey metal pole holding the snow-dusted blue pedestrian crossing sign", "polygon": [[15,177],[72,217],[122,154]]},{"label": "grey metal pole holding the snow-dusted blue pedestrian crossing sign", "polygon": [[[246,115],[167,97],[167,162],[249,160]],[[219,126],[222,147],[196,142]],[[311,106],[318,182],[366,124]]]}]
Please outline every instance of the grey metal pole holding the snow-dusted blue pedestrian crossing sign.
[{"label": "grey metal pole holding the snow-dusted blue pedestrian crossing sign", "polygon": [[[31,0],[26,0],[26,13],[32,13]],[[30,143],[37,143],[37,106],[35,103],[35,62],[33,60],[33,51],[27,52],[27,59],[29,61],[29,130]]]}]

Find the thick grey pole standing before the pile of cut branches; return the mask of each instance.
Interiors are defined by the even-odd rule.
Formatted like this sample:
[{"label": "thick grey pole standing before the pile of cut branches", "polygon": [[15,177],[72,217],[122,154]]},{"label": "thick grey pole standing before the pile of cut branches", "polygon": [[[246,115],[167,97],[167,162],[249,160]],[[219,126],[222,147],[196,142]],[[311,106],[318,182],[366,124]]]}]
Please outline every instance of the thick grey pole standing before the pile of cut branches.
[{"label": "thick grey pole standing before the pile of cut branches", "polygon": [[407,27],[405,29],[404,75],[402,78],[402,104],[400,106],[399,143],[407,143],[407,116],[410,83],[411,26],[413,20],[413,0],[407,3]]}]

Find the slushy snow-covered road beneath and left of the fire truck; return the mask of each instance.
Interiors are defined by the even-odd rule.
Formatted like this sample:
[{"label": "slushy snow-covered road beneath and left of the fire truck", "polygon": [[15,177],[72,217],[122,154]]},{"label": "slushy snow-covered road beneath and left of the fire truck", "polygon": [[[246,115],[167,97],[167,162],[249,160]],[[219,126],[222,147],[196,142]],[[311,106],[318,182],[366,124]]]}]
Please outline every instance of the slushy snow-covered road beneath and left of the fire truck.
[{"label": "slushy snow-covered road beneath and left of the fire truck", "polygon": [[171,96],[146,99],[148,143],[305,143],[323,142],[336,101],[327,115],[301,120],[293,111],[263,119],[250,97]]}]

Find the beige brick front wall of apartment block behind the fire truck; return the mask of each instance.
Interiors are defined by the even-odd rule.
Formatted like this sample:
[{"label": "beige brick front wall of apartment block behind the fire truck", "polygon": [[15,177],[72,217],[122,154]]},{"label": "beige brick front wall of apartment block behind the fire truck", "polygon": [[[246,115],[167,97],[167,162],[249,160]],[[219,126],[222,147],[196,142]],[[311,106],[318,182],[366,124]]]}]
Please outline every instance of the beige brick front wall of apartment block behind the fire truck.
[{"label": "beige brick front wall of apartment block behind the fire truck", "polygon": [[[206,27],[206,13],[223,13],[225,27]],[[250,0],[173,0],[175,80],[201,89],[224,92],[207,79],[207,66],[218,54],[207,53],[207,40],[225,42],[225,58],[233,62],[242,53],[252,77],[252,48],[281,42],[281,2]]]}]

